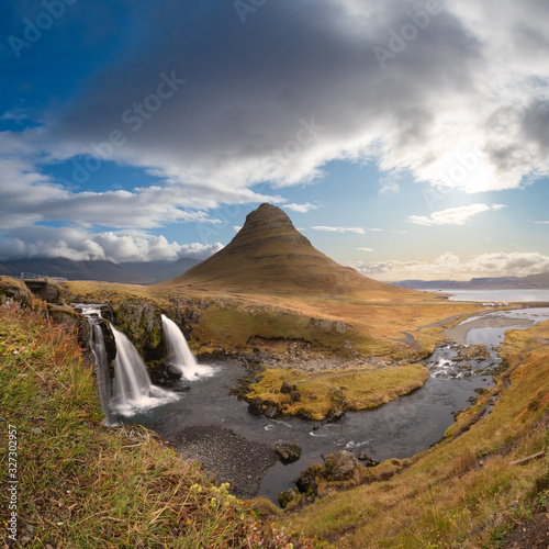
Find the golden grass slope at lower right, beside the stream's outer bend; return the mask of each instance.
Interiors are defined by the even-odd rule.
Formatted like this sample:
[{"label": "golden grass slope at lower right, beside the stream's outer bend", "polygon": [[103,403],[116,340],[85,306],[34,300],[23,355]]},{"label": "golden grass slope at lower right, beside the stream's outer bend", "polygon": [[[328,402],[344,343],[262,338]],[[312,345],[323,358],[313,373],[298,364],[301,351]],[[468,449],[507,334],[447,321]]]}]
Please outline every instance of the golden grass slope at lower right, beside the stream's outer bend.
[{"label": "golden grass slope at lower right, beside the stream's outer bend", "polygon": [[402,473],[328,495],[281,524],[338,548],[472,549],[498,547],[518,520],[549,511],[547,453],[513,463],[549,445],[549,323],[512,332],[503,354],[509,368],[494,392],[503,394],[486,417],[471,424],[462,414],[452,430],[468,430]]}]

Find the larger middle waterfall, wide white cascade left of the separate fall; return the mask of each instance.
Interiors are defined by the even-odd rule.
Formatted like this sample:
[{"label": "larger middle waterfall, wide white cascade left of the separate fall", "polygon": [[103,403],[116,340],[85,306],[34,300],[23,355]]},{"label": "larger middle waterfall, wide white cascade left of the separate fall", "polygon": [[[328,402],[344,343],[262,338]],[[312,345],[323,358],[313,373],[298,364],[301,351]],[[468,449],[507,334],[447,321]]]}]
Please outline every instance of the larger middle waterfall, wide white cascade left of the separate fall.
[{"label": "larger middle waterfall, wide white cascade left of the separate fall", "polygon": [[116,344],[111,407],[127,414],[177,399],[173,393],[150,383],[145,362],[132,341],[112,324],[111,329]]}]

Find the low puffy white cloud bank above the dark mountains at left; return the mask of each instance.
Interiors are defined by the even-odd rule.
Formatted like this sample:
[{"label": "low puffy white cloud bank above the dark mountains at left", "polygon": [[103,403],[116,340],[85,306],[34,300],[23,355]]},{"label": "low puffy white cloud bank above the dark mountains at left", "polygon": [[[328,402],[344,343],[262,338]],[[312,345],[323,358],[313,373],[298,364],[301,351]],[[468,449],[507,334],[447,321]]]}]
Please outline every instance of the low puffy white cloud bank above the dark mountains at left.
[{"label": "low puffy white cloud bank above the dark mountains at left", "polygon": [[0,240],[0,259],[66,257],[75,261],[93,258],[114,262],[205,259],[223,247],[220,243],[169,243],[164,236],[124,232],[92,234],[78,227],[29,227],[18,236]]}]

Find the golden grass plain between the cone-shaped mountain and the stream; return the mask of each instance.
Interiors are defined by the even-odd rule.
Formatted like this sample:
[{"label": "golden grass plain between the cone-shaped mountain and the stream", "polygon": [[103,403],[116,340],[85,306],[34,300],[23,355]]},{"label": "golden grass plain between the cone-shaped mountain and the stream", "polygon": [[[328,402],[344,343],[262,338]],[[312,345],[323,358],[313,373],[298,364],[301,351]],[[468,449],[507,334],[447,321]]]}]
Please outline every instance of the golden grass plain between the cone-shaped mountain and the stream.
[{"label": "golden grass plain between the cone-shaped mountain and the stream", "polygon": [[[385,292],[372,290],[360,299],[323,299],[303,295],[268,295],[260,293],[226,293],[193,288],[141,287],[105,282],[67,282],[68,302],[109,303],[113,311],[133,318],[132,303],[146,303],[172,316],[183,307],[200,313],[200,323],[190,325],[191,349],[208,354],[215,349],[251,352],[259,348],[282,357],[284,346],[274,349],[277,339],[310,344],[313,354],[354,358],[390,356],[395,360],[416,361],[433,352],[442,337],[440,323],[458,322],[456,315],[478,313],[482,307],[439,301],[424,292],[395,294],[391,302]],[[184,303],[184,305],[183,305]],[[127,314],[126,314],[127,313]],[[313,320],[313,323],[311,322]],[[343,322],[345,333],[325,329],[315,320]],[[138,326],[135,320],[128,335]],[[406,334],[404,334],[404,332]],[[139,347],[138,347],[139,348]]]}]

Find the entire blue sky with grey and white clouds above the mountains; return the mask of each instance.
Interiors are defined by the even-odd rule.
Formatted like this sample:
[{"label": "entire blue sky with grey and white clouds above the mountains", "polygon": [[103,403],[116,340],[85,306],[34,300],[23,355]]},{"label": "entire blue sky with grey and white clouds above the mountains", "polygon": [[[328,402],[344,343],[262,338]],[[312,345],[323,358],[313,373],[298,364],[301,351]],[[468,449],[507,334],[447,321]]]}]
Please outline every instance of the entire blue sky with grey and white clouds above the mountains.
[{"label": "entire blue sky with grey and white clouds above the mountains", "polygon": [[262,202],[386,281],[549,271],[546,0],[3,0],[0,260],[203,259]]}]

